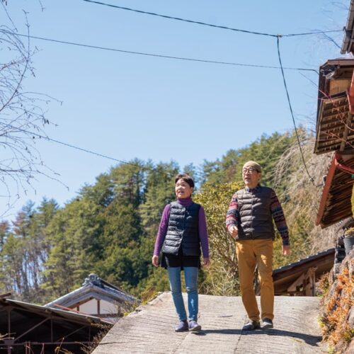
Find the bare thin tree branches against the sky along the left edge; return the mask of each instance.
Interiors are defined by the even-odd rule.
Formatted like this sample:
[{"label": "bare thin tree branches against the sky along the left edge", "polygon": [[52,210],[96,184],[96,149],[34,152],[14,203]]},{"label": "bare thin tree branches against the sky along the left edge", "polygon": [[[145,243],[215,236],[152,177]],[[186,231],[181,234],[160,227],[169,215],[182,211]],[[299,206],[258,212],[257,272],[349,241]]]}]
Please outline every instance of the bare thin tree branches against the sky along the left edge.
[{"label": "bare thin tree branches against the sky along the left edge", "polygon": [[[10,18],[4,5],[6,1],[2,0],[1,3]],[[17,35],[11,18],[10,22],[13,28],[0,25],[3,62],[0,64],[0,185],[6,191],[0,198],[6,200],[7,205],[7,210],[1,210],[0,216],[4,216],[13,207],[21,193],[27,194],[28,188],[35,191],[33,181],[37,181],[37,176],[58,181],[57,173],[45,165],[36,147],[39,139],[36,133],[47,136],[45,126],[52,124],[45,118],[47,108],[43,107],[53,98],[24,90],[25,79],[35,76],[33,55],[37,50],[31,50],[27,14],[25,24],[28,37],[24,41]]]}]

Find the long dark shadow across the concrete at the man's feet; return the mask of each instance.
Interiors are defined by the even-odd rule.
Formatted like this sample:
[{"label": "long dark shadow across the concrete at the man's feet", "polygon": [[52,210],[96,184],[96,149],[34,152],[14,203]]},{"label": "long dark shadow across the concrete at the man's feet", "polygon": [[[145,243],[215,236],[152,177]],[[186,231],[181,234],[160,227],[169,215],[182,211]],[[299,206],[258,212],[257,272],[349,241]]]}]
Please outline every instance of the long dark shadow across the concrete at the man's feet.
[{"label": "long dark shadow across the concrete at the man's feet", "polygon": [[321,336],[312,336],[311,334],[283,331],[280,329],[257,329],[256,331],[242,331],[241,329],[205,329],[194,334],[196,336],[207,336],[207,334],[209,333],[232,334],[242,336],[259,336],[260,334],[264,336],[283,336],[302,340],[310,346],[318,346],[318,343],[322,340]]}]

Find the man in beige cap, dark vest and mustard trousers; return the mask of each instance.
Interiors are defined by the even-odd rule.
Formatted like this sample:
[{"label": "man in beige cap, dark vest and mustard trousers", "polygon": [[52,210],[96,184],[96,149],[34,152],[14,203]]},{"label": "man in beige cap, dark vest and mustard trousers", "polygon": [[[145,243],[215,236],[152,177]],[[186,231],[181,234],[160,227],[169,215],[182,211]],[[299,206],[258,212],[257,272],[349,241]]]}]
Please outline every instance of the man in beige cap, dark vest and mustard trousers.
[{"label": "man in beige cap, dark vest and mustard trousers", "polygon": [[[245,188],[232,196],[226,217],[227,230],[236,241],[242,302],[249,316],[244,331],[273,328],[273,219],[282,237],[282,254],[290,254],[289,232],[282,207],[274,190],[260,185],[261,174],[261,166],[257,162],[244,164],[242,179]],[[256,265],[261,285],[262,324],[253,290]]]}]

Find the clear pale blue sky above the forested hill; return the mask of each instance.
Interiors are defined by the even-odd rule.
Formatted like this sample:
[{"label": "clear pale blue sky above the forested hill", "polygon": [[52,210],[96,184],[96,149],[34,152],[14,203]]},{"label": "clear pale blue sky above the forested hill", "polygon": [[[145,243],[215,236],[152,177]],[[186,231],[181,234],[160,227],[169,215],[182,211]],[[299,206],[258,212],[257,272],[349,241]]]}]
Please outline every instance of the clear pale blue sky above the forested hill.
[{"label": "clear pale blue sky above the forested hill", "polygon": [[[349,1],[118,1],[108,4],[266,33],[340,30]],[[42,10],[42,6],[44,10]],[[18,33],[149,52],[175,57],[278,66],[276,39],[236,33],[192,23],[89,4],[83,0],[8,0],[6,9]],[[11,26],[0,6],[1,22]],[[331,34],[339,45],[343,33]],[[57,126],[52,139],[115,159],[154,162],[175,160],[180,166],[215,160],[229,149],[245,147],[263,134],[292,129],[279,69],[232,67],[201,62],[88,49],[31,40],[35,78],[30,91],[62,101],[48,105],[47,119]],[[340,50],[323,35],[280,40],[285,67],[318,69]],[[298,124],[316,113],[316,74],[286,71]],[[38,142],[47,166],[69,187],[38,177],[35,190],[22,193],[15,207],[44,196],[61,205],[84,183],[94,183],[114,162],[53,142]],[[1,202],[1,200],[0,200]],[[1,210],[6,208],[5,201]]]}]

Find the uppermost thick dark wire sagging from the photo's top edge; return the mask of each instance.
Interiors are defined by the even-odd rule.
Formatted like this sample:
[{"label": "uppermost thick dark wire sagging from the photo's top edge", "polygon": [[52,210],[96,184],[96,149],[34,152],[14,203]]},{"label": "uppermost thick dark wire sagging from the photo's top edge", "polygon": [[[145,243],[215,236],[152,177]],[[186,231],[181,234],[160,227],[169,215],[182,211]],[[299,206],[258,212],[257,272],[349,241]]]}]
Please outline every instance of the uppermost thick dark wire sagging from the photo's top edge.
[{"label": "uppermost thick dark wire sagging from the photo's top edge", "polygon": [[[162,18],[169,18],[169,20],[183,21],[183,22],[188,22],[188,23],[195,23],[197,25],[207,25],[209,27],[220,28],[222,30],[233,30],[235,32],[249,33],[251,35],[265,35],[265,36],[268,36],[268,37],[276,37],[276,38],[278,38],[278,35],[274,35],[272,33],[256,32],[256,31],[253,31],[253,30],[241,30],[239,28],[232,28],[232,27],[227,27],[227,26],[224,26],[224,25],[213,25],[212,23],[193,21],[193,20],[188,20],[188,19],[185,19],[185,18],[174,17],[174,16],[167,16],[167,15],[162,15],[161,13],[142,11],[142,10],[137,10],[135,8],[129,8],[129,7],[125,7],[125,6],[106,4],[106,3],[103,3],[101,1],[93,1],[93,0],[82,0],[82,1],[86,1],[86,2],[89,2],[89,3],[92,3],[92,4],[98,4],[98,5],[113,7],[113,8],[119,8],[120,10],[133,11],[133,12],[137,12],[137,13],[144,13],[145,15],[158,16],[158,17],[162,17]],[[342,30],[322,30],[322,31],[306,32],[306,33],[290,33],[290,34],[282,35],[282,36],[283,37],[295,37],[297,35],[316,35],[316,34],[321,34],[321,33],[333,33],[333,32],[341,32],[341,31]]]}]

